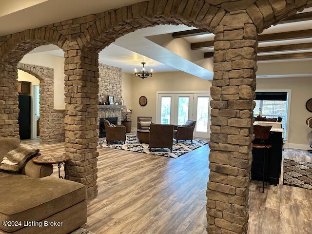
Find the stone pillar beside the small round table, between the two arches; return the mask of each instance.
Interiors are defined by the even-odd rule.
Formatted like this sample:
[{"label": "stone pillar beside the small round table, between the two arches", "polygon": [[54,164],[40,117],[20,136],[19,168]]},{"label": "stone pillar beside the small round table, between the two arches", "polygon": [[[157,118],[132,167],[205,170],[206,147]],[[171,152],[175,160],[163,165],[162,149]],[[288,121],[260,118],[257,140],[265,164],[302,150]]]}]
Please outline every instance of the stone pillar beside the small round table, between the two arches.
[{"label": "stone pillar beside the small round table, between the two arches", "polygon": [[98,194],[98,54],[71,43],[64,49],[67,178],[85,184],[92,199]]}]

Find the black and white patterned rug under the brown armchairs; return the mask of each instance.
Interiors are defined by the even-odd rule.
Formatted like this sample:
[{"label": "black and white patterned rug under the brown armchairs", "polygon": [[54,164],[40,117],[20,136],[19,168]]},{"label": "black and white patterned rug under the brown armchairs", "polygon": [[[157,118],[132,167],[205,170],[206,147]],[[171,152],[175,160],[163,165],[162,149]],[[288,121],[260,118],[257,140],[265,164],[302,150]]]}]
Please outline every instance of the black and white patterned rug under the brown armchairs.
[{"label": "black and white patterned rug under the brown armchairs", "polygon": [[179,140],[179,143],[176,143],[176,140],[174,140],[172,153],[170,153],[169,149],[162,148],[159,149],[153,148],[152,152],[150,152],[149,145],[139,142],[136,134],[127,135],[126,143],[125,144],[122,143],[123,143],[122,141],[114,141],[107,143],[105,140],[101,140],[98,142],[98,146],[177,158],[203,145],[208,144],[208,141],[194,139],[193,144],[191,144],[190,140]]}]

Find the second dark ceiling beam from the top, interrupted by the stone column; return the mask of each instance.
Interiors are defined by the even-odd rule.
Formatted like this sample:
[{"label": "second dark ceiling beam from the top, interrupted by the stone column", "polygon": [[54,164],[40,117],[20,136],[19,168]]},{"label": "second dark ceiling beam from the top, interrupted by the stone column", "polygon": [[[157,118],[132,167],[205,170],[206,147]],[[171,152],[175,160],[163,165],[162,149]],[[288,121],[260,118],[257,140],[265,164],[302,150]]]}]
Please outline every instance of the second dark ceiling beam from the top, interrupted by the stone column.
[{"label": "second dark ceiling beam from the top, interrupted by the stone column", "polygon": [[[258,35],[258,42],[264,41],[277,41],[277,40],[288,40],[288,39],[302,39],[302,38],[311,38],[312,29],[299,30],[299,31],[290,31],[282,33],[271,33],[271,34],[261,34]],[[206,47],[213,47],[214,40],[203,41],[191,43],[192,50],[199,50]]]}]

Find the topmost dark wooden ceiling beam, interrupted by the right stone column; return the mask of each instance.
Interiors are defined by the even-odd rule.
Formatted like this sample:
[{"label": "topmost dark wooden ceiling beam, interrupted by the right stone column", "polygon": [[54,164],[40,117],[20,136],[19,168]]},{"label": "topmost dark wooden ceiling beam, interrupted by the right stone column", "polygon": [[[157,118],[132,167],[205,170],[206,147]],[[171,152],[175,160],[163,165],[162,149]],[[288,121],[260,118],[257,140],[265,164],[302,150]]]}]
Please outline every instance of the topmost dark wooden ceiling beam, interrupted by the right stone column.
[{"label": "topmost dark wooden ceiling beam, interrupted by the right stone column", "polygon": [[[284,20],[279,21],[277,24],[293,23],[293,22],[300,22],[300,21],[305,21],[305,20],[312,20],[312,11],[292,15],[290,17],[287,17]],[[207,32],[203,29],[196,28],[196,29],[176,32],[176,33],[173,33],[172,36],[173,38],[185,38],[185,37],[191,37],[191,36],[205,35],[209,33],[210,32]]]}]

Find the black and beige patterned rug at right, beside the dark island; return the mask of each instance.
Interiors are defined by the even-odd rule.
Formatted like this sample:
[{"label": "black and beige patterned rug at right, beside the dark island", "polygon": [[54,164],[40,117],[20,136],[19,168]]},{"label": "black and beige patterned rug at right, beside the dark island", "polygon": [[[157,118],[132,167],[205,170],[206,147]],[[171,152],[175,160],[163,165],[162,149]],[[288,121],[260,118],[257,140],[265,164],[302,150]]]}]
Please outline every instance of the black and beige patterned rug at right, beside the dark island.
[{"label": "black and beige patterned rug at right, beside the dark island", "polygon": [[284,159],[284,184],[312,189],[312,162]]}]

